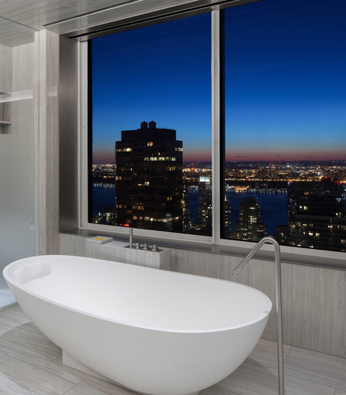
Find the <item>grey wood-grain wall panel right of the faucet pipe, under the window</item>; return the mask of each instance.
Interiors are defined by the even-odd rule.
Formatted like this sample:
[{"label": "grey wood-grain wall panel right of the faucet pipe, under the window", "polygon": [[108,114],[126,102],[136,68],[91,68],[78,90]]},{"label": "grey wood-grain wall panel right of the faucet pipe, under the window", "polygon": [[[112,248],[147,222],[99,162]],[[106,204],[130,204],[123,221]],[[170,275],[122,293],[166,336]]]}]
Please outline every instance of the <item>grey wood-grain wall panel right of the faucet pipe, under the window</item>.
[{"label": "grey wood-grain wall panel right of the faucet pipe, under the window", "polygon": [[285,341],[346,357],[346,271],[283,265]]}]

